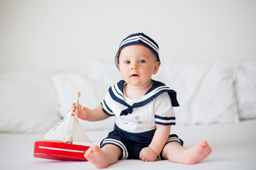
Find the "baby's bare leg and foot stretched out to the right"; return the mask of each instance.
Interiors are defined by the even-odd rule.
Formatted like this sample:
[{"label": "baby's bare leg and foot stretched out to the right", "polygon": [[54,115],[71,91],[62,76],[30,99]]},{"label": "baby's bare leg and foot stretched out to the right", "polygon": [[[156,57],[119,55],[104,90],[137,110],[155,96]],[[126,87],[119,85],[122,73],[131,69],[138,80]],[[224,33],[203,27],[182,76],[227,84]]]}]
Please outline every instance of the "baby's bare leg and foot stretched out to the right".
[{"label": "baby's bare leg and foot stretched out to the right", "polygon": [[199,142],[197,145],[186,149],[178,142],[169,142],[163,149],[162,156],[170,162],[181,164],[197,164],[208,157],[211,149],[206,141]]}]

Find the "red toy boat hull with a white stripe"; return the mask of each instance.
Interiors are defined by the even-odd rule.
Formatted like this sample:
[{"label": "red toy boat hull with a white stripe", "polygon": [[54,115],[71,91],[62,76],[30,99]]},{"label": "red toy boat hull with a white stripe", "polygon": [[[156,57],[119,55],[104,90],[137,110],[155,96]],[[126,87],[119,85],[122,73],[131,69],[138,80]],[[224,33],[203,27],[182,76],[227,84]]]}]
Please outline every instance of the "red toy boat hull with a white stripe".
[{"label": "red toy boat hull with a white stripe", "polygon": [[55,159],[61,161],[87,161],[85,151],[89,149],[83,145],[73,145],[59,142],[35,142],[34,157]]}]

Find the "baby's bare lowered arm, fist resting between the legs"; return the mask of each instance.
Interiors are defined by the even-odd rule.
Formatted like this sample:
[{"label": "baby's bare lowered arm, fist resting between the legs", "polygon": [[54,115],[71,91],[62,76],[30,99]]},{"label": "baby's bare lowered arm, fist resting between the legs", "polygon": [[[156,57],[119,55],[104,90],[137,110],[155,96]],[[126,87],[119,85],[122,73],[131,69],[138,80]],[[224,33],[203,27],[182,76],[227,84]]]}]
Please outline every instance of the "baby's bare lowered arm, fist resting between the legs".
[{"label": "baby's bare lowered arm, fist resting between the legs", "polygon": [[156,132],[154,133],[154,137],[149,147],[144,147],[142,149],[139,153],[139,158],[145,162],[154,162],[164,148],[164,145],[166,145],[170,130],[171,125],[156,125]]}]

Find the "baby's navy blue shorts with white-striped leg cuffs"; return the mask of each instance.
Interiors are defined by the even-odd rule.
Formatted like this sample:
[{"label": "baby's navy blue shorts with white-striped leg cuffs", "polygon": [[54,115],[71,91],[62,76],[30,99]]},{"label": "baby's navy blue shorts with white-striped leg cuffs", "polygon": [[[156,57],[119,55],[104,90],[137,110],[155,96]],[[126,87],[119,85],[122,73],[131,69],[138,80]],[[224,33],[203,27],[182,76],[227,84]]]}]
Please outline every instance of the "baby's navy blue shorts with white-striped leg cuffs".
[{"label": "baby's navy blue shorts with white-striped leg cuffs", "polygon": [[[139,159],[139,152],[141,152],[144,147],[149,147],[155,131],[156,130],[150,130],[147,132],[132,133],[121,130],[117,125],[114,125],[114,130],[102,140],[100,147],[107,144],[115,145],[121,149],[121,157],[119,157],[119,159]],[[166,144],[169,142],[178,142],[183,146],[183,141],[175,134],[169,135]],[[159,155],[156,159],[163,158]]]}]

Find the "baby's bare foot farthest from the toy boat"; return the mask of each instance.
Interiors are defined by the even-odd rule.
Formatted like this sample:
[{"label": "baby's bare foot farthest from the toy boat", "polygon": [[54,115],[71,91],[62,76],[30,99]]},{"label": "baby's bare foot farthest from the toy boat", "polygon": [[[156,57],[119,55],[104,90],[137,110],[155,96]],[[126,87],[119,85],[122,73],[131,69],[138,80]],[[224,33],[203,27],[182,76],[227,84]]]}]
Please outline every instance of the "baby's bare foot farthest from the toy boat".
[{"label": "baby's bare foot farthest from the toy boat", "polygon": [[206,141],[199,142],[185,152],[184,164],[196,164],[208,157],[211,149]]}]

